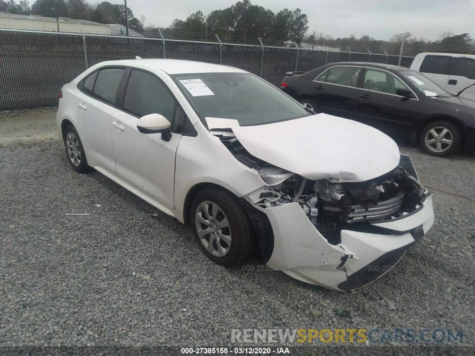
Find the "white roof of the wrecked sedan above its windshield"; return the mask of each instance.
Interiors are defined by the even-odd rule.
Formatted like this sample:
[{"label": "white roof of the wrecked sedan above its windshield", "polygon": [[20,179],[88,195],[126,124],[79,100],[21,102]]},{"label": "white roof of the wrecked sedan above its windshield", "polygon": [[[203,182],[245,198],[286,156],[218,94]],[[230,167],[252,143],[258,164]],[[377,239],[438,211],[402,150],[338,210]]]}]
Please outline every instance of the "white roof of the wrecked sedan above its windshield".
[{"label": "white roof of the wrecked sedan above its windshield", "polygon": [[158,68],[167,74],[186,73],[248,73],[242,69],[213,63],[183,59],[122,59],[98,63],[101,66],[131,66],[142,69]]}]

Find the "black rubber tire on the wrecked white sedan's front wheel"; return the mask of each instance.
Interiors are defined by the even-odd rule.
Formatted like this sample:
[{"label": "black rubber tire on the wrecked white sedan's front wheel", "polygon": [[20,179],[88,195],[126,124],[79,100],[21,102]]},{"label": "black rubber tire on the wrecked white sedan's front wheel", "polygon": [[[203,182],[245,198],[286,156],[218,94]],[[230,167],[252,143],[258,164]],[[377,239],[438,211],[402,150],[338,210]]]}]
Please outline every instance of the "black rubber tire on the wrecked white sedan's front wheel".
[{"label": "black rubber tire on the wrecked white sedan's front wheel", "polygon": [[[196,222],[197,210],[198,213],[203,216],[204,211],[201,210],[200,205],[201,203],[206,201],[216,204],[222,211],[222,213],[225,215],[225,217],[228,219],[228,231],[231,236],[231,243],[228,246],[228,252],[223,256],[216,256],[215,254],[210,253],[205,247],[204,243],[201,242],[201,239],[198,234],[198,227]],[[220,221],[220,218],[217,217],[217,220]],[[247,258],[248,254],[252,250],[251,238],[253,230],[249,218],[247,217],[246,211],[239,203],[237,198],[224,189],[209,187],[199,191],[193,199],[193,203],[191,204],[190,223],[201,251],[203,251],[203,253],[211,261],[215,262],[220,266],[236,266],[240,262],[243,262],[243,260]],[[207,227],[207,224],[200,225],[202,226],[202,228]],[[225,229],[222,229],[220,231],[223,234],[228,234]],[[211,236],[205,235],[204,238],[206,239],[207,243],[209,243]],[[224,240],[219,241],[224,242]],[[215,253],[218,253],[218,248],[215,248],[215,246],[217,246],[216,244],[218,243],[222,248],[226,248],[227,245],[223,244],[223,242],[218,242],[217,239],[214,240],[213,250],[216,250],[214,251]]]}]

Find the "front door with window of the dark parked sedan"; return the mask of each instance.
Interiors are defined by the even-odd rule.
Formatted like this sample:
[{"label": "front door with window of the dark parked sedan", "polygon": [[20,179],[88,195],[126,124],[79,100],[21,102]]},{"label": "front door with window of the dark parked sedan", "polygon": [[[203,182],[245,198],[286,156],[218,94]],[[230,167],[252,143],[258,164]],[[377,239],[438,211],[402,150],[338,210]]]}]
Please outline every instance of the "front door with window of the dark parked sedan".
[{"label": "front door with window of the dark parked sedan", "polygon": [[420,116],[419,100],[396,94],[398,89],[412,90],[389,71],[365,68],[358,90],[358,114],[361,121],[381,131],[409,133]]}]

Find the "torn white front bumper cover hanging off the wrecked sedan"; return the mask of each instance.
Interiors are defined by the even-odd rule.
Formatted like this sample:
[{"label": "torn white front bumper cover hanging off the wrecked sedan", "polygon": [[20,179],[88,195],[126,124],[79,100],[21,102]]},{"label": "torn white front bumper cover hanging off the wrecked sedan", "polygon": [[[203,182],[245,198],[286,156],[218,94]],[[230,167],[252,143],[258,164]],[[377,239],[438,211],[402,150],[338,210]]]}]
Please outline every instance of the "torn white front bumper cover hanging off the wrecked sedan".
[{"label": "torn white front bumper cover hanging off the wrecked sedan", "polygon": [[[269,217],[274,231],[274,251],[267,265],[300,281],[333,290],[339,290],[338,285],[352,273],[383,254],[414,242],[409,233],[392,236],[342,230],[341,244],[332,245],[312,225],[297,203],[263,211]],[[406,218],[398,221],[400,226],[404,225],[402,231],[424,224],[424,232],[427,232],[434,223],[432,198],[429,196],[424,208],[411,216],[414,217],[412,224],[405,225]],[[391,223],[378,225],[390,228]],[[352,255],[352,258],[339,267],[345,255]],[[343,266],[346,271],[342,270]]]}]

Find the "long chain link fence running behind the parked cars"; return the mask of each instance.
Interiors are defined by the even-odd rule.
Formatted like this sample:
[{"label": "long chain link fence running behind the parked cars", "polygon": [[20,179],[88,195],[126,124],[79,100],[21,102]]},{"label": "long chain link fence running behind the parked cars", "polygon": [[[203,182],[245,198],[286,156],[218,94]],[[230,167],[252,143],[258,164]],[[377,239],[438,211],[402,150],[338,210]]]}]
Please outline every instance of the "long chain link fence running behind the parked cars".
[{"label": "long chain link fence running behind the parked cars", "polygon": [[[57,106],[61,87],[89,66],[116,59],[171,58],[244,69],[279,85],[285,72],[334,62],[397,65],[398,56],[176,39],[0,29],[0,111]],[[402,57],[409,67],[413,57]]]}]

